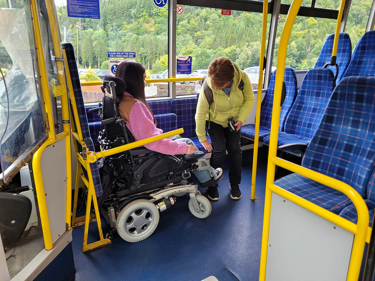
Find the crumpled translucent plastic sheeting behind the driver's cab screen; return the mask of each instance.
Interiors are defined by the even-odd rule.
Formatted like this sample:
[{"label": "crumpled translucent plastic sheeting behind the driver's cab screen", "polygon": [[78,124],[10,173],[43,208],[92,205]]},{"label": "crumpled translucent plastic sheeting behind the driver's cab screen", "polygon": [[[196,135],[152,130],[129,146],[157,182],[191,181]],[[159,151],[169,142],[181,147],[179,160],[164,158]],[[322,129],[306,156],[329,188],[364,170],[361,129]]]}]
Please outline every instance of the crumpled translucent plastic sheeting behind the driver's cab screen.
[{"label": "crumpled translucent plastic sheeting behind the driver's cab screen", "polygon": [[[33,111],[37,104],[37,93],[25,12],[23,9],[0,8],[0,18],[0,42],[13,63],[5,75],[9,95],[9,123],[2,142],[4,143]],[[0,136],[5,130],[7,110],[5,86],[1,80]]]}]

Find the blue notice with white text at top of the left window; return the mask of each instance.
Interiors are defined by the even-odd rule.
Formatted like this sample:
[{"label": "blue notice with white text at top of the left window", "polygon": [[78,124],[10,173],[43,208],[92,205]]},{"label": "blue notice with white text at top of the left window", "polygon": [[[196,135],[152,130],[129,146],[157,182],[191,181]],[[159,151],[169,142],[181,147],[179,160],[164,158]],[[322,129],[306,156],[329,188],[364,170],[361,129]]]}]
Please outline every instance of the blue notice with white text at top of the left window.
[{"label": "blue notice with white text at top of the left window", "polygon": [[68,16],[100,19],[99,0],[68,0]]}]

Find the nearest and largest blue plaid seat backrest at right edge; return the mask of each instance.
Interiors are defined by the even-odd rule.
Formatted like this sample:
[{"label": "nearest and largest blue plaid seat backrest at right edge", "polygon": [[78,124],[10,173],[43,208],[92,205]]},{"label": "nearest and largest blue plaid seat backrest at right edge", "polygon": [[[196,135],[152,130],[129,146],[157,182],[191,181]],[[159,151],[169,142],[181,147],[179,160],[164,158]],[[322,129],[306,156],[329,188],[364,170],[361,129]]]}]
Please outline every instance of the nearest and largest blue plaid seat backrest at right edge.
[{"label": "nearest and largest blue plaid seat backrest at right edge", "polygon": [[375,160],[375,78],[342,79],[332,93],[302,166],[365,196]]}]

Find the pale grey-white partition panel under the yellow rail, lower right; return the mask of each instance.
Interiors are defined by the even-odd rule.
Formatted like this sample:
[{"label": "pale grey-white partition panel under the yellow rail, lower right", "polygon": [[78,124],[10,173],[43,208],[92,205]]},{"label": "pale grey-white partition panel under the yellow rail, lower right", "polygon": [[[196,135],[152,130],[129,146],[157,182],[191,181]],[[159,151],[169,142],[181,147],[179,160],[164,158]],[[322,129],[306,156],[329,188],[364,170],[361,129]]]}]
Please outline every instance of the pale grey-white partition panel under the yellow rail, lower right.
[{"label": "pale grey-white partition panel under the yellow rail, lower right", "polygon": [[353,233],[272,194],[266,280],[346,280]]}]

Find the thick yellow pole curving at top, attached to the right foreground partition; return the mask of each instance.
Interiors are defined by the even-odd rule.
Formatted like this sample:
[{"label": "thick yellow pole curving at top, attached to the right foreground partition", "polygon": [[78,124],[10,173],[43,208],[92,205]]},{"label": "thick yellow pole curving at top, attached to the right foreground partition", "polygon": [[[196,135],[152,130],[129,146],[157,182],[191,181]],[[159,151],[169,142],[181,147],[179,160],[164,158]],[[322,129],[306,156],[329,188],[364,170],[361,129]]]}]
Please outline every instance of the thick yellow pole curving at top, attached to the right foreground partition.
[{"label": "thick yellow pole curving at top, attached to the right foreground partition", "polygon": [[282,83],[284,81],[285,72],[285,59],[287,57],[287,47],[298,10],[301,6],[302,0],[293,0],[287,20],[285,21],[284,29],[281,34],[279,51],[278,51],[278,63],[276,71],[275,81],[275,95],[273,96],[273,107],[272,107],[272,121],[271,121],[271,136],[270,136],[270,147],[268,154],[268,166],[267,166],[267,178],[266,178],[266,196],[264,202],[264,218],[263,218],[263,235],[262,235],[262,247],[261,247],[261,260],[260,260],[260,272],[259,280],[266,279],[266,265],[267,265],[267,248],[268,248],[268,235],[270,229],[270,216],[271,216],[271,199],[272,192],[270,186],[273,185],[275,179],[275,164],[272,163],[272,158],[276,157],[277,144],[278,144],[278,133],[280,124],[280,111],[281,111],[281,91]]}]

